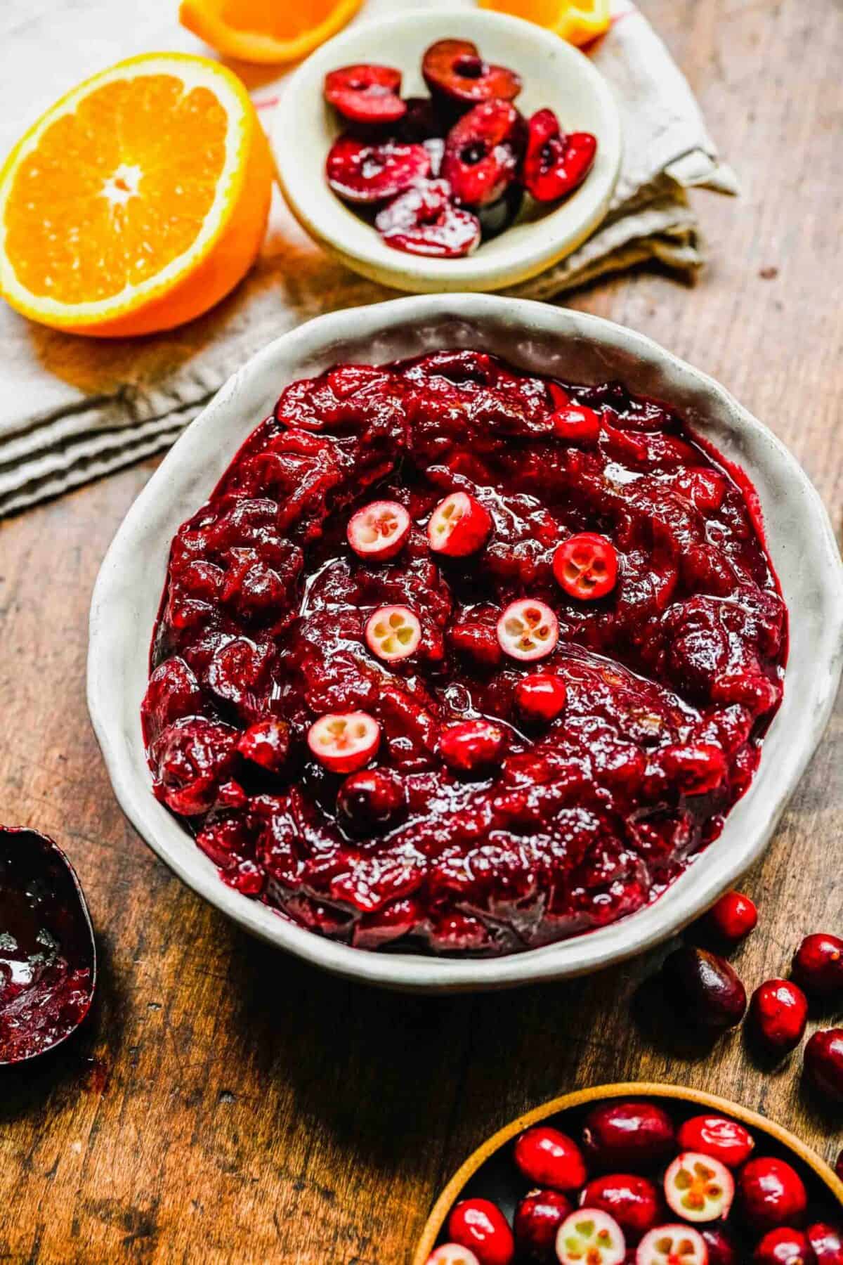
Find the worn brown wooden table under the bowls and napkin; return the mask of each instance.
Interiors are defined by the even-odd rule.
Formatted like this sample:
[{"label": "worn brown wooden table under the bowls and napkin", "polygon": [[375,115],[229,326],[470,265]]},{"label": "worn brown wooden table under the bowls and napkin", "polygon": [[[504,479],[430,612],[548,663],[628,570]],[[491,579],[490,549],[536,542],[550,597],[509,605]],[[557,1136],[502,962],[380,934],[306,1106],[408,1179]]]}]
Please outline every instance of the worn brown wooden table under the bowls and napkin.
[{"label": "worn brown wooden table under the bowls and napkin", "polygon": [[[712,263],[575,300],[719,378],[790,445],[835,525],[843,10],[837,0],[646,0],[741,173],[699,197]],[[0,1260],[399,1265],[436,1192],[492,1130],[565,1089],[684,1082],[795,1128],[829,1159],[842,1120],[741,1036],[677,1058],[631,999],[658,955],[599,979],[497,996],[351,987],[257,944],[123,820],[88,726],[91,584],[149,477],[139,466],[0,526],[0,820],[67,846],[101,950],[94,1021],[52,1063],[0,1077]],[[840,930],[843,712],[766,859],[736,963],[781,973]],[[838,1016],[839,1018],[839,1016]]]}]

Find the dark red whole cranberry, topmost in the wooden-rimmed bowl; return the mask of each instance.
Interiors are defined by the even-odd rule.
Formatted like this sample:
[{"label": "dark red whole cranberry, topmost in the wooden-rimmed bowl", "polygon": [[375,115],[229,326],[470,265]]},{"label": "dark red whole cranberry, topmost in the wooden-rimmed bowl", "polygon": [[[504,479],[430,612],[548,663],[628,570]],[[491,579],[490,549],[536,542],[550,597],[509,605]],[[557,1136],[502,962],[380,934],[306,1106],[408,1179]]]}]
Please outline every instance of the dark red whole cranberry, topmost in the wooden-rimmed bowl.
[{"label": "dark red whole cranberry, topmost in the wooden-rimmed bowl", "polygon": [[655,1169],[674,1154],[674,1123],[655,1103],[600,1103],[585,1117],[583,1147],[600,1169]]}]

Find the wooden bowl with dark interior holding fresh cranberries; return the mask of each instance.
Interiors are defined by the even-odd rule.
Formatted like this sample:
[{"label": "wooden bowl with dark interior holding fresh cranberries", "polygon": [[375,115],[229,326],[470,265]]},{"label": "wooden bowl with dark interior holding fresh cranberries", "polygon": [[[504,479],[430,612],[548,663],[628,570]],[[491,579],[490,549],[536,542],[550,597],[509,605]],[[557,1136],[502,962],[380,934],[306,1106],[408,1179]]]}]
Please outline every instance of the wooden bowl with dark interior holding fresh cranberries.
[{"label": "wooden bowl with dark interior holding fresh cranberries", "polygon": [[[493,1199],[495,1203],[503,1203],[503,1211],[508,1214],[509,1208],[507,1207],[507,1178],[511,1173],[511,1182],[508,1185],[512,1188],[513,1199],[509,1202],[517,1202],[523,1193],[523,1179],[519,1179],[514,1164],[507,1159],[507,1165],[497,1165],[497,1160],[504,1160],[503,1152],[508,1142],[513,1137],[517,1137],[522,1130],[528,1128],[531,1125],[537,1125],[541,1121],[549,1120],[551,1116],[559,1116],[562,1112],[571,1112],[576,1108],[583,1108],[590,1106],[598,1101],[605,1101],[608,1098],[662,1098],[671,1099],[675,1103],[688,1104],[690,1108],[703,1108],[707,1111],[715,1111],[723,1116],[731,1116],[733,1120],[739,1121],[746,1125],[753,1133],[763,1133],[772,1144],[773,1150],[786,1151],[789,1159],[795,1161],[795,1168],[801,1173],[803,1178],[806,1179],[809,1184],[809,1193],[811,1188],[814,1192],[820,1194],[828,1193],[829,1206],[833,1207],[837,1202],[843,1208],[843,1182],[834,1175],[832,1169],[820,1160],[809,1146],[791,1133],[789,1130],[782,1128],[781,1125],[776,1125],[773,1121],[767,1120],[765,1116],[760,1116],[755,1111],[749,1111],[747,1107],[741,1107],[738,1103],[729,1102],[727,1098],[718,1098],[717,1094],[707,1094],[699,1089],[688,1089],[682,1085],[665,1085],[653,1084],[648,1080],[631,1080],[614,1085],[595,1085],[590,1089],[578,1089],[571,1094],[562,1094],[561,1098],[551,1098],[550,1102],[543,1103],[541,1107],[536,1107],[533,1111],[526,1112],[523,1116],[518,1116],[509,1125],[499,1128],[497,1133],[487,1138],[482,1146],[478,1146],[476,1151],[468,1157],[465,1164],[463,1164],[451,1180],[447,1183],[441,1195],[434,1204],[434,1209],[427,1218],[427,1223],[422,1231],[421,1238],[418,1240],[418,1246],[416,1247],[415,1256],[412,1259],[412,1265],[425,1265],[428,1255],[436,1246],[436,1240],[439,1238],[440,1231],[447,1219],[447,1214],[452,1206],[463,1194],[471,1195],[485,1195]],[[689,1111],[688,1114],[694,1114],[694,1111]],[[560,1127],[565,1128],[565,1122],[560,1121]],[[567,1125],[570,1128],[570,1123]],[[482,1171],[484,1170],[484,1171]],[[808,1170],[808,1171],[805,1171]],[[470,1184],[470,1190],[466,1187]]]}]

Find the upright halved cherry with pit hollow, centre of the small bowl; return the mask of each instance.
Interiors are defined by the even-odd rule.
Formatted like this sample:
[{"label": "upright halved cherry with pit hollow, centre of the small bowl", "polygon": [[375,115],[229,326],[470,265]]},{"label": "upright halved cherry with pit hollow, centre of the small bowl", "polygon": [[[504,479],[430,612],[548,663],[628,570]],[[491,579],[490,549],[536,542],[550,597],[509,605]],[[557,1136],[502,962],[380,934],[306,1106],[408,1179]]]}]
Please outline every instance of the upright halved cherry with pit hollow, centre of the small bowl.
[{"label": "upright halved cherry with pit hollow, centre of the small bowl", "polygon": [[469,110],[445,138],[442,178],[460,206],[497,202],[516,178],[523,148],[523,119],[508,101]]}]

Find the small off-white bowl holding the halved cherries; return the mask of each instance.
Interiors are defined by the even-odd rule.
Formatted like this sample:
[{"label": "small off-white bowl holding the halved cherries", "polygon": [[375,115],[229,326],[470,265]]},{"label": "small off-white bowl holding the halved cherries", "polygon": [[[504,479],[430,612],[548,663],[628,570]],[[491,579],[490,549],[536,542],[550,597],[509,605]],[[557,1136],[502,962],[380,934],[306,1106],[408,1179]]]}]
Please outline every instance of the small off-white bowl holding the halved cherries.
[{"label": "small off-white bowl holding the halved cherries", "polygon": [[[422,53],[444,37],[471,39],[488,61],[517,71],[525,86],[516,104],[525,116],[550,106],[565,130],[598,138],[594,167],[576,192],[556,207],[522,213],[506,233],[463,259],[427,259],[387,245],[325,180],[327,152],[343,130],[322,97],[325,75],[375,61],[401,70],[404,96],[426,96]],[[549,268],[600,223],[621,167],[618,109],[588,57],[552,32],[483,9],[409,10],[329,40],[287,83],[270,143],[281,187],[302,228],[364,277],[418,292],[500,290]]]}]

